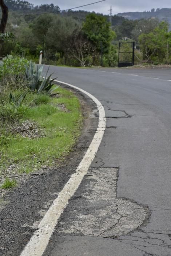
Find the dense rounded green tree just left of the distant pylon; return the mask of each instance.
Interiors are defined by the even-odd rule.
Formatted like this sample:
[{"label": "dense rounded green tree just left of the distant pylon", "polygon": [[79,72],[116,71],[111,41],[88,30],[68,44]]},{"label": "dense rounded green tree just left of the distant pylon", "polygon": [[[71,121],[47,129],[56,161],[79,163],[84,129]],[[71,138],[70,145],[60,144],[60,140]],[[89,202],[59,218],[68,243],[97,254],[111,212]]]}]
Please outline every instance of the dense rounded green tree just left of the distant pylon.
[{"label": "dense rounded green tree just left of the distant pylon", "polygon": [[103,47],[103,53],[107,53],[110,49],[111,41],[116,37],[110,26],[107,18],[95,13],[88,14],[85,22],[83,22],[83,33],[96,46],[98,52]]}]

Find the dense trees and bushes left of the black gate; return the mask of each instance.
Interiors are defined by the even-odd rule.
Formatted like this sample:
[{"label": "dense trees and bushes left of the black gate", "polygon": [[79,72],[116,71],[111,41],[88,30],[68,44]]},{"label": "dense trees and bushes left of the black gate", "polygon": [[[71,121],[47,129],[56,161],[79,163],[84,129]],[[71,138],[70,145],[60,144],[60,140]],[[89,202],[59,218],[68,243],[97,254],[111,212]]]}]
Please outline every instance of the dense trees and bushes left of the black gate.
[{"label": "dense trees and bushes left of the black gate", "polygon": [[103,15],[89,13],[84,21],[61,13],[38,16],[9,15],[7,31],[13,40],[5,42],[1,55],[20,54],[35,61],[43,50],[45,63],[57,65],[116,65],[116,34]]}]

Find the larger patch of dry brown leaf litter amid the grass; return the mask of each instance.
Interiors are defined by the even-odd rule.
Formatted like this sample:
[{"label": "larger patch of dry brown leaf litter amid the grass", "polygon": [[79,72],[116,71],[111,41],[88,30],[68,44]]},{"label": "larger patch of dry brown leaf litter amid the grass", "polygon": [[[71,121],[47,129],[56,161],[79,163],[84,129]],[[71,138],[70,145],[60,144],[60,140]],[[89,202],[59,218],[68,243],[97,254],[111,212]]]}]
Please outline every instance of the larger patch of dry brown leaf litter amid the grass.
[{"label": "larger patch of dry brown leaf litter amid the grass", "polygon": [[43,129],[37,127],[35,122],[25,121],[19,126],[11,129],[12,134],[20,134],[24,138],[35,139],[44,137]]}]

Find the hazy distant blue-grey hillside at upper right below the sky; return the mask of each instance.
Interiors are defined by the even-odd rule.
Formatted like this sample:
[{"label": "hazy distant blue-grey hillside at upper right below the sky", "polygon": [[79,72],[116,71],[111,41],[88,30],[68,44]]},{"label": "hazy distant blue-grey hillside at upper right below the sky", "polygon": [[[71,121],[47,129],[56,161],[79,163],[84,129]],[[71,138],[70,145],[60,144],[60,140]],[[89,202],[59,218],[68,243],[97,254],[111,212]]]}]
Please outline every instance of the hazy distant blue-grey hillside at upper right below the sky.
[{"label": "hazy distant blue-grey hillside at upper right below the sky", "polygon": [[170,24],[171,29],[171,8],[162,8],[162,9],[152,9],[151,11],[144,12],[123,12],[118,13],[118,16],[122,16],[126,19],[136,20],[136,19],[149,19],[149,18],[158,18],[159,20],[166,20]]}]

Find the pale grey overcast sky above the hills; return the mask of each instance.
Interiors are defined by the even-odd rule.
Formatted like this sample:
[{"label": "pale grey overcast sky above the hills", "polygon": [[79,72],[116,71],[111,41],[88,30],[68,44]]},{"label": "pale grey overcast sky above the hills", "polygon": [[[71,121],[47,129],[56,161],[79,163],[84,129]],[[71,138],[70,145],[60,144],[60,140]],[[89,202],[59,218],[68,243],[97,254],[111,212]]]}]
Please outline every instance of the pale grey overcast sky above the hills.
[{"label": "pale grey overcast sky above the hills", "polygon": [[[40,4],[55,4],[60,7],[61,10],[93,3],[98,0],[28,0],[28,2],[34,5]],[[112,5],[113,14],[118,12],[129,12],[129,11],[149,11],[152,8],[171,8],[170,0],[106,0],[102,3],[90,5],[87,7],[80,8],[85,11],[95,11],[103,14],[108,14],[110,6]],[[76,9],[79,10],[79,9]]]}]

